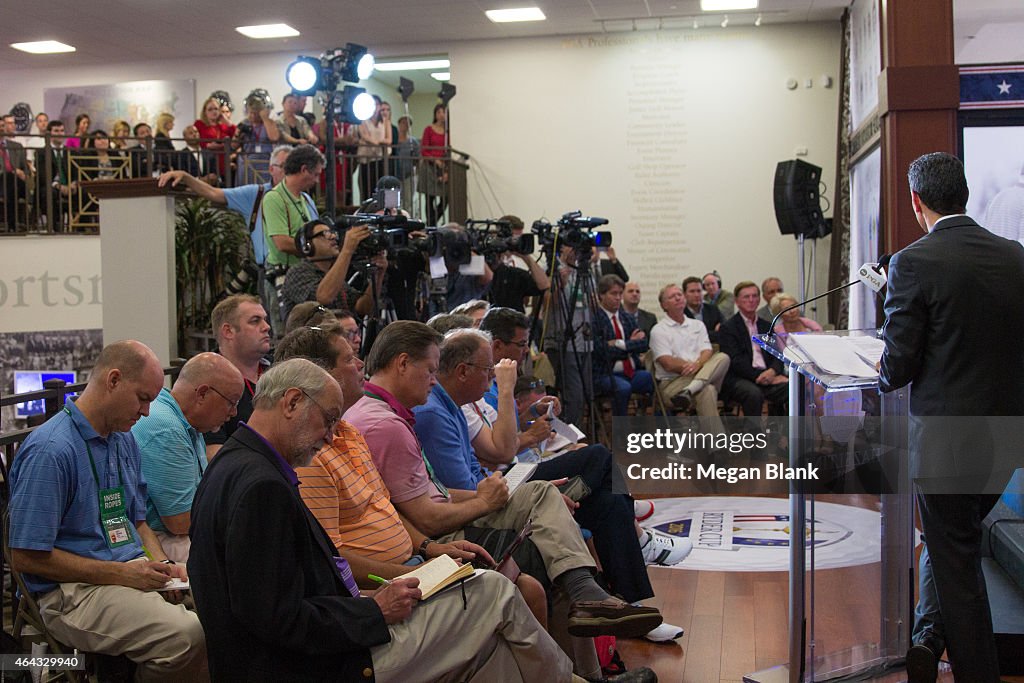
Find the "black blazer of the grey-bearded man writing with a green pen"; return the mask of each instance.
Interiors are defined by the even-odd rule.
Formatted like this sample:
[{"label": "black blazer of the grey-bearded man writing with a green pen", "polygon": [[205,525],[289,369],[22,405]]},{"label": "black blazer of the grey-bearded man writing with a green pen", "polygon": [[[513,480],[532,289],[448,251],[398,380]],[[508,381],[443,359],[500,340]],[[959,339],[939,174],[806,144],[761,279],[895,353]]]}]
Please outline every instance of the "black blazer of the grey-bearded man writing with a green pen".
[{"label": "black blazer of the grey-bearded man writing with a green pen", "polygon": [[381,610],[345,588],[331,540],[250,429],[203,475],[189,535],[213,680],[372,680],[369,648],[391,638]]}]

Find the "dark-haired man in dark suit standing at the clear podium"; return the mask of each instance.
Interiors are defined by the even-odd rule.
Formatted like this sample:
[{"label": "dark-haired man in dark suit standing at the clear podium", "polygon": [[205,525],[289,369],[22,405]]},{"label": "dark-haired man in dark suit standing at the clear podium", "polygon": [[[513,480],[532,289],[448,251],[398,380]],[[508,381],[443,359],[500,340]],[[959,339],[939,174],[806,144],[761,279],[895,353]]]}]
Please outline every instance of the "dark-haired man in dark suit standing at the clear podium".
[{"label": "dark-haired man in dark suit standing at the clear podium", "polygon": [[[910,476],[926,547],[907,674],[935,681],[948,650],[956,681],[997,683],[981,521],[998,496],[962,477],[988,455],[983,443],[970,429],[943,427],[964,422],[937,418],[1024,415],[1024,247],[965,215],[967,178],[956,157],[925,155],[910,164],[908,180],[926,236],[890,264],[880,368],[883,391],[913,383]],[[966,324],[978,319],[986,324]],[[958,489],[929,493],[938,480]]]}]

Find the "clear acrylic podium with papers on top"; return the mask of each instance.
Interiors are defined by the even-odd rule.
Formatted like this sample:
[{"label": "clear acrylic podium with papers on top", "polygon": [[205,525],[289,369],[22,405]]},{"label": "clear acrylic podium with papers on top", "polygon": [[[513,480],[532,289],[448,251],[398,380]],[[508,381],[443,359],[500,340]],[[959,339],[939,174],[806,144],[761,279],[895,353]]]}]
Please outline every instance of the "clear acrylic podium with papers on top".
[{"label": "clear acrylic podium with papers on top", "polygon": [[[878,336],[876,330],[817,334]],[[847,446],[837,442],[829,462],[839,481],[844,477],[858,480],[864,471],[869,471],[868,478],[880,486],[877,493],[881,511],[881,566],[872,564],[858,569],[862,581],[854,580],[856,583],[849,585],[837,586],[834,578],[841,574],[829,574],[846,569],[819,572],[815,567],[814,516],[819,492],[806,487],[805,482],[791,481],[791,540],[797,538],[797,529],[806,529],[806,542],[790,544],[788,660],[749,674],[743,680],[804,683],[853,676],[881,677],[902,665],[913,628],[914,507],[906,458],[909,388],[880,394],[877,377],[826,374],[800,354],[796,348],[799,337],[794,335],[791,339],[778,334],[754,338],[788,369],[790,464],[800,467],[819,454],[825,422],[831,420],[827,423],[829,428],[837,424],[836,416],[829,415],[837,411],[837,405],[853,404],[859,409],[856,412],[860,413],[860,420],[856,415],[840,416],[839,424],[851,424],[852,420],[854,426],[861,426],[861,433],[857,439],[851,438]],[[843,412],[842,408],[839,412]],[[869,432],[866,436],[865,431]],[[838,487],[843,489],[842,485]],[[866,498],[874,500],[870,494]],[[808,519],[814,522],[810,526]],[[818,573],[823,577],[821,581],[816,581]],[[855,611],[838,608],[837,604],[850,603],[849,596],[840,600],[840,595],[834,595],[843,591],[858,594],[859,600],[869,606]],[[874,622],[876,608],[878,622]]]}]

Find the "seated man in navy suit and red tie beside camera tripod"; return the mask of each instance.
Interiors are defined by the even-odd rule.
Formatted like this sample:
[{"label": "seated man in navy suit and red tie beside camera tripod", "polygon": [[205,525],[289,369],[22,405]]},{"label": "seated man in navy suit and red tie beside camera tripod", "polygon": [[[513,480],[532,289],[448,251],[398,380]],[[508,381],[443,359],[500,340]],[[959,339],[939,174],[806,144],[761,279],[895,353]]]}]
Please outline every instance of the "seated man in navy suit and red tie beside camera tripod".
[{"label": "seated man in navy suit and red tie beside camera tripod", "polygon": [[594,316],[594,391],[611,393],[611,414],[624,416],[634,393],[649,396],[654,390],[650,373],[640,354],[648,339],[632,315],[622,314],[623,287],[618,275],[604,275],[597,283],[600,313]]}]

